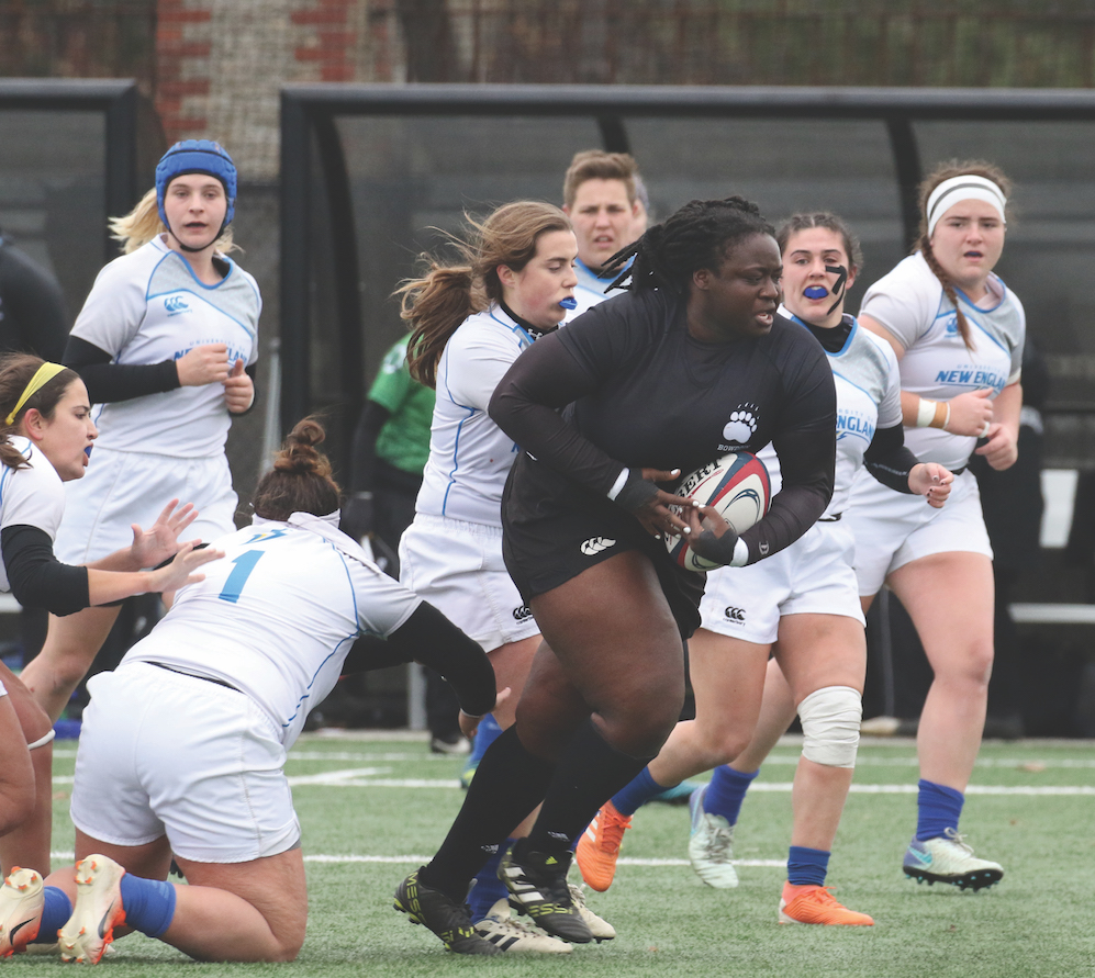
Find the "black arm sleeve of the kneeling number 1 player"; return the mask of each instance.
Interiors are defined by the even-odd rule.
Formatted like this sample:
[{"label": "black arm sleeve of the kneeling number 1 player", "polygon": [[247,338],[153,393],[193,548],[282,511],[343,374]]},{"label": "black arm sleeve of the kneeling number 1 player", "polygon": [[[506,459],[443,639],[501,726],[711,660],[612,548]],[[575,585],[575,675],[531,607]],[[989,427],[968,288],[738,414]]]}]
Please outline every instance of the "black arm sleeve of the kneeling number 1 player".
[{"label": "black arm sleeve of the kneeling number 1 player", "polygon": [[387,641],[358,639],[343,673],[371,672],[403,662],[421,662],[440,673],[469,716],[481,717],[494,709],[498,690],[487,653],[428,602],[418,605]]}]

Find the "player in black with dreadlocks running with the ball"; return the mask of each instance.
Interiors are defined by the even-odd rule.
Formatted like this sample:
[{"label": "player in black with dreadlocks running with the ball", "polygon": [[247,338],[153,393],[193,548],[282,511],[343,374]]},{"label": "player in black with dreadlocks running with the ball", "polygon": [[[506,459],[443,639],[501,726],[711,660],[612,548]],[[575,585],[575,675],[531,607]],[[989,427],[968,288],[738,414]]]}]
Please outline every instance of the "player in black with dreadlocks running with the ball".
[{"label": "player in black with dreadlocks running with the ball", "polygon": [[[750,564],[801,537],[833,492],[833,373],[817,340],[776,314],[782,260],[758,207],[692,201],[610,267],[632,258],[628,293],[522,353],[491,401],[523,449],[503,553],[545,642],[516,723],[484,755],[437,855],[396,893],[449,946],[469,924],[469,880],[540,801],[500,876],[539,926],[592,938],[567,889],[571,840],[672,731],[682,638],[700,623],[703,575],[660,538],[684,533],[709,560]],[[769,442],[783,488],[740,537],[714,509],[671,508],[681,473]]]}]

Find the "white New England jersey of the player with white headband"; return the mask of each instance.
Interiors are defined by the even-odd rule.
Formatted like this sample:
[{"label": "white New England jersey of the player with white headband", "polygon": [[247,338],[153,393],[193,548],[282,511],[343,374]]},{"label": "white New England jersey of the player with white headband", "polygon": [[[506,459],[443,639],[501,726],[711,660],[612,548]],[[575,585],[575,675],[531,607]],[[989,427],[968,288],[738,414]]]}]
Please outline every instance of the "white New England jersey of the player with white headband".
[{"label": "white New England jersey of the player with white headband", "polygon": [[[949,401],[991,387],[995,397],[1019,380],[1027,323],[1023,305],[997,276],[988,277],[987,288],[984,305],[954,290],[970,324],[972,350],[958,331],[954,305],[919,251],[867,290],[860,315],[881,323],[905,348],[903,390]],[[905,442],[920,461],[954,470],[969,461],[977,439],[941,428],[906,428]]]}]

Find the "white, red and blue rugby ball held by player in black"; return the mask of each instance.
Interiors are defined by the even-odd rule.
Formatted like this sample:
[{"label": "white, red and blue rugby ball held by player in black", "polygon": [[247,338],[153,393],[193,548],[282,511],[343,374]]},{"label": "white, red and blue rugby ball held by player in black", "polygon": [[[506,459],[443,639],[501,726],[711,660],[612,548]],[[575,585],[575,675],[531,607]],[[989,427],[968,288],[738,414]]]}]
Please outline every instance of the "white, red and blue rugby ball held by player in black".
[{"label": "white, red and blue rugby ball held by player in black", "polygon": [[[723,456],[696,469],[677,488],[677,495],[701,506],[714,506],[736,533],[759,522],[772,502],[768,469],[747,451]],[[705,560],[689,547],[688,537],[666,537],[670,557],[686,571],[713,571],[722,566]]]}]

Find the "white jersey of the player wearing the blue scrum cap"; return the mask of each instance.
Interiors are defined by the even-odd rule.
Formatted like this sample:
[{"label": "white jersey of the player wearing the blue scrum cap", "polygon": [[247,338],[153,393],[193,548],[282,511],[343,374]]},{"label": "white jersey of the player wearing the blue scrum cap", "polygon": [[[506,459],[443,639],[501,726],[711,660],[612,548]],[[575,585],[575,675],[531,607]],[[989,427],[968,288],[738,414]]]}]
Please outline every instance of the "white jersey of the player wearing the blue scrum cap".
[{"label": "white jersey of the player wearing the blue scrum cap", "polygon": [[[105,350],[114,363],[161,363],[223,342],[230,362],[250,366],[262,302],[255,279],[223,260],[228,273],[206,285],[178,251],[153,238],[99,272],[72,336]],[[224,386],[214,383],[100,405],[94,421],[104,448],[208,458],[224,451],[231,416]]]}]

